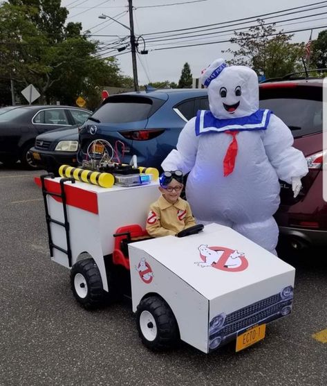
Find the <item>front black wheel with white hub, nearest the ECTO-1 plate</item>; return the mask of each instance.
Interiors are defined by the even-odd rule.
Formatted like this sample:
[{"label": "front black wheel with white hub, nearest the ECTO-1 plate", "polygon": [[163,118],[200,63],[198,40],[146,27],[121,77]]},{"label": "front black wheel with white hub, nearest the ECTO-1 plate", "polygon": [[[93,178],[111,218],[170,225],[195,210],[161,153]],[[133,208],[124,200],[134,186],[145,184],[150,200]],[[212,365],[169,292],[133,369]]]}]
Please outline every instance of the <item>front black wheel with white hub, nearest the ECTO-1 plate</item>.
[{"label": "front black wheel with white hub, nearest the ECTO-1 plate", "polygon": [[157,296],[140,301],[136,312],[138,335],[144,346],[151,350],[165,350],[180,339],[178,324],[168,304]]}]

